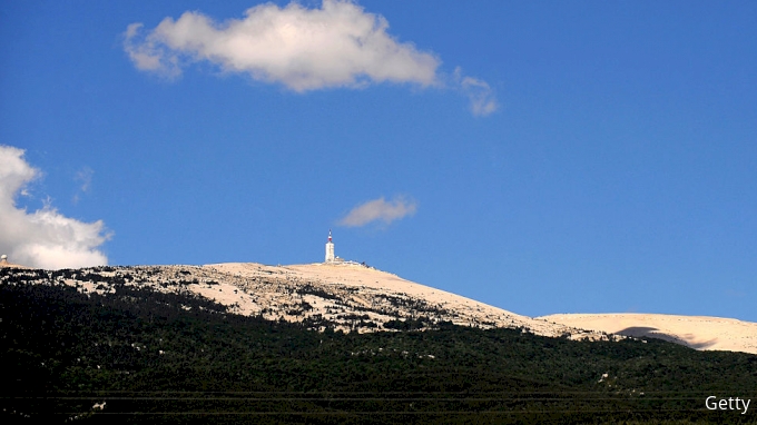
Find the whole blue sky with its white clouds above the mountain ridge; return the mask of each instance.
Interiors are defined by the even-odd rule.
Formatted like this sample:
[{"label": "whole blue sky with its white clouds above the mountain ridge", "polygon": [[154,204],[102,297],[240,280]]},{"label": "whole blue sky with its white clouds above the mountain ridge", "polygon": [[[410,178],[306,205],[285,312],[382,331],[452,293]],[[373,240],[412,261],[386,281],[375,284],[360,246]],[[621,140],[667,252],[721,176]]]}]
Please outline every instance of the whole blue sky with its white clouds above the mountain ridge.
[{"label": "whole blue sky with its white clouds above the mountain ridge", "polygon": [[259,4],[3,2],[0,249],[757,322],[757,3]]}]

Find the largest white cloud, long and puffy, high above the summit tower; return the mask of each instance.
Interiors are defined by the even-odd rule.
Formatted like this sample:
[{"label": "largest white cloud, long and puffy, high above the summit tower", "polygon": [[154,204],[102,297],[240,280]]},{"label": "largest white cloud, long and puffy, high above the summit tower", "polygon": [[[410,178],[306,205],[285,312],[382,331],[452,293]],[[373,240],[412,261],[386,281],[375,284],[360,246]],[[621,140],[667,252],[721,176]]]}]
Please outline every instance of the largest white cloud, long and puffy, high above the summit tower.
[{"label": "largest white cloud, long and puffy, high above the summit tower", "polygon": [[194,11],[146,34],[131,23],[124,48],[137,69],[169,78],[186,63],[208,61],[298,92],[383,81],[436,85],[440,60],[396,41],[387,28],[383,17],[350,1],[324,0],[321,9],[266,3],[222,23]]}]

